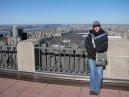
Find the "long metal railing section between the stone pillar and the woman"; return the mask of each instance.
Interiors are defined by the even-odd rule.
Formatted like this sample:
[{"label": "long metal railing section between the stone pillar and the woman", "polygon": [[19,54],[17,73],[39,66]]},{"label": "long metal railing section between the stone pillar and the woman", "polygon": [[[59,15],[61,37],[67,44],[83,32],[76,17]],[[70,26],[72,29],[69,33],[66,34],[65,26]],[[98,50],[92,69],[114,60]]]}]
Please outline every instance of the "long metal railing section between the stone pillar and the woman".
[{"label": "long metal railing section between the stone pillar and the woman", "polygon": [[35,47],[36,71],[87,75],[85,49]]}]

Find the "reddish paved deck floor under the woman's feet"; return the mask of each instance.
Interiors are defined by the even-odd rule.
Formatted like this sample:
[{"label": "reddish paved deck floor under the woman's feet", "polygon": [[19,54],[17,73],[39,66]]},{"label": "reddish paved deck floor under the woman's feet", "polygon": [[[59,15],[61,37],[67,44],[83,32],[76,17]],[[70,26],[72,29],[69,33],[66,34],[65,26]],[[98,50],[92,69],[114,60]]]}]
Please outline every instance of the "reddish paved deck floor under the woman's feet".
[{"label": "reddish paved deck floor under the woman's feet", "polygon": [[0,97],[129,97],[129,91],[102,89],[89,95],[89,87],[56,85],[0,78]]}]

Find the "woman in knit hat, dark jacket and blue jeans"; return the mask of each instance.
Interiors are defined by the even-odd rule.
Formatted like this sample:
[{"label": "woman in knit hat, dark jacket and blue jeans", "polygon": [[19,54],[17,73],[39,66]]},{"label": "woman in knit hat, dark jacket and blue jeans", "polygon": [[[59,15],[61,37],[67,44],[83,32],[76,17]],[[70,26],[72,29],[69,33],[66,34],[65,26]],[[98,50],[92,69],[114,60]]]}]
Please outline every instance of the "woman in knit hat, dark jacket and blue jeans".
[{"label": "woman in knit hat, dark jacket and blue jeans", "polygon": [[101,89],[103,78],[103,66],[96,64],[96,53],[103,53],[108,48],[107,33],[101,28],[98,21],[94,21],[93,29],[85,41],[86,51],[88,53],[88,63],[90,67],[90,95],[98,95]]}]

